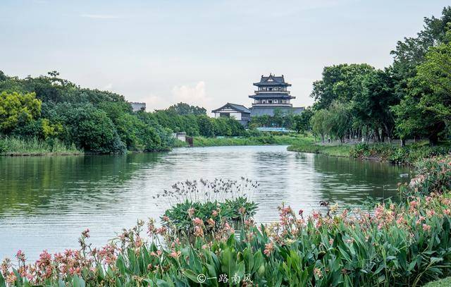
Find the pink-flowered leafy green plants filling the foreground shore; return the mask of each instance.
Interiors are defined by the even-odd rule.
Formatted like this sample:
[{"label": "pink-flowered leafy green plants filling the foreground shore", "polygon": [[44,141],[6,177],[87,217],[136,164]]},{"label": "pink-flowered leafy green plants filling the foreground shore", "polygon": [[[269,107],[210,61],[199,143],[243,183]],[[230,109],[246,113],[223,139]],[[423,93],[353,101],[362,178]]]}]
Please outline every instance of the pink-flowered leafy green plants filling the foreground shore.
[{"label": "pink-flowered leafy green plants filling the foreground shore", "polygon": [[32,263],[19,250],[0,286],[423,286],[451,275],[451,155],[417,162],[400,202],[368,210],[282,204],[279,221],[258,225],[256,192],[246,178],[175,183],[159,194],[171,204],[161,225],[139,220],[103,248],[86,230],[79,250]]}]

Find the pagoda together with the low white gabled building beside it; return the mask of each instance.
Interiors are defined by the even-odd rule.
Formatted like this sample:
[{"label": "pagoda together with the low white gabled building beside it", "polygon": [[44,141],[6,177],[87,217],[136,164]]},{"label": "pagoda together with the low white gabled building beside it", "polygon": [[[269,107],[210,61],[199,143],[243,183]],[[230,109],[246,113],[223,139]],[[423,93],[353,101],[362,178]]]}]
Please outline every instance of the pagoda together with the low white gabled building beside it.
[{"label": "pagoda together with the low white gabled building beside it", "polygon": [[254,83],[254,86],[257,86],[257,90],[249,96],[249,98],[254,99],[251,108],[247,109],[241,104],[227,103],[221,108],[211,111],[214,113],[214,117],[233,116],[243,126],[246,126],[251,116],[274,116],[276,109],[283,114],[300,114],[304,111],[304,107],[292,106],[290,101],[296,97],[293,97],[287,90],[288,87],[291,87],[291,84],[285,82],[283,75],[276,76],[271,73],[268,77],[261,75],[260,82]]}]

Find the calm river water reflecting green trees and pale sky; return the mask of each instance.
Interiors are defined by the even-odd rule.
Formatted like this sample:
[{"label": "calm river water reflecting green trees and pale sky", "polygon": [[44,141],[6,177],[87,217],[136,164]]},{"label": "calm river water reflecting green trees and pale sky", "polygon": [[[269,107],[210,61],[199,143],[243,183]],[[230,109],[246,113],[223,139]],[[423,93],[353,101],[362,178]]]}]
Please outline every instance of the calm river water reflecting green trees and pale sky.
[{"label": "calm river water reflecting green trees and pale sky", "polygon": [[78,248],[85,228],[104,245],[137,219],[158,217],[152,199],[177,181],[215,177],[259,181],[257,221],[277,219],[281,202],[310,212],[320,200],[359,204],[395,196],[404,168],[371,161],[287,152],[285,146],[204,147],[159,154],[0,157],[0,259],[17,250]]}]

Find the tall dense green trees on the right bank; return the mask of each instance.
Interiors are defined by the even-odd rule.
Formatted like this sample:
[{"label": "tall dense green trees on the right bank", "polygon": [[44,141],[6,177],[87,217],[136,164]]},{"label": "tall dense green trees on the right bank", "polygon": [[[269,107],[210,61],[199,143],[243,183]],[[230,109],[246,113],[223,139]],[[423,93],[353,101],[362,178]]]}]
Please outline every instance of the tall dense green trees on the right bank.
[{"label": "tall dense green trees on the right bank", "polygon": [[322,140],[449,138],[451,120],[451,7],[425,18],[424,30],[397,43],[393,64],[323,69],[314,82],[311,127]]}]

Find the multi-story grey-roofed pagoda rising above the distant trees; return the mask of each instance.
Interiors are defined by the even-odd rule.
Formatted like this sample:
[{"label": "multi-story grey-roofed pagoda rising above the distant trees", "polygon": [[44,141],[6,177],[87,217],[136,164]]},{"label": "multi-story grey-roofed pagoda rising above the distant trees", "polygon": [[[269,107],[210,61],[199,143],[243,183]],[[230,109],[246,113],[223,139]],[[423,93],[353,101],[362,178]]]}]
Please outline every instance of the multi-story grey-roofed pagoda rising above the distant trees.
[{"label": "multi-story grey-roofed pagoda rising above the distant trees", "polygon": [[294,108],[290,103],[290,100],[296,97],[287,90],[291,84],[285,82],[283,75],[269,74],[268,77],[261,75],[260,82],[254,83],[254,86],[257,86],[257,90],[254,91],[255,94],[249,96],[254,99],[251,116],[273,116],[275,109],[280,109],[283,114],[299,114],[304,110],[304,108]]}]

